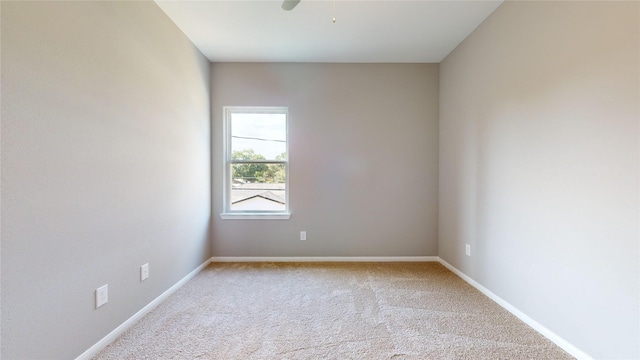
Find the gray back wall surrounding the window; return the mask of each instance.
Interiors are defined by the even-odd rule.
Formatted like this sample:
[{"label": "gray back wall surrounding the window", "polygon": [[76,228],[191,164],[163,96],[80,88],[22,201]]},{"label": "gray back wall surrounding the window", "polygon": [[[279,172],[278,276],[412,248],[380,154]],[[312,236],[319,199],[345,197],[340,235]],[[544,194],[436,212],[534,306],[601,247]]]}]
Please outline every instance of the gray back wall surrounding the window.
[{"label": "gray back wall surrounding the window", "polygon": [[[213,256],[437,255],[437,64],[211,69]],[[220,219],[226,105],[289,107],[290,220]]]}]

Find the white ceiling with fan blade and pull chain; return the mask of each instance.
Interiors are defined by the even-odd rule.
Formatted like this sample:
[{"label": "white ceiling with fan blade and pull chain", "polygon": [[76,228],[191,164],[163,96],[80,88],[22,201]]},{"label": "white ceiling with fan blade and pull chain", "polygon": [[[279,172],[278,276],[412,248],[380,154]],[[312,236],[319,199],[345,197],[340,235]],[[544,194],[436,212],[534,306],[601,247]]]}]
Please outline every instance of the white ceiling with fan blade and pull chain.
[{"label": "white ceiling with fan blade and pull chain", "polygon": [[438,63],[502,0],[156,3],[212,62]]}]

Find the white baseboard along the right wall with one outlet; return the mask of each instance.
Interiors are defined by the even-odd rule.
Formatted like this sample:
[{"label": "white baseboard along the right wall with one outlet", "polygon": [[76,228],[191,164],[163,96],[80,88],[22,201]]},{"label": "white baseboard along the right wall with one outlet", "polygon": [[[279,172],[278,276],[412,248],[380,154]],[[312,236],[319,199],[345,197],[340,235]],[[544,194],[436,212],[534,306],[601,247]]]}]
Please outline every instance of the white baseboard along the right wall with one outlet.
[{"label": "white baseboard along the right wall with one outlet", "polygon": [[510,312],[513,315],[515,315],[518,319],[524,321],[527,325],[531,326],[535,331],[539,332],[542,336],[544,336],[547,339],[551,340],[553,343],[555,343],[556,345],[561,347],[564,351],[566,351],[569,354],[571,354],[572,356],[574,356],[576,359],[578,359],[578,360],[594,360],[593,357],[589,356],[589,354],[587,354],[586,352],[584,352],[584,351],[578,349],[577,347],[573,346],[571,343],[569,343],[567,340],[565,340],[562,337],[560,337],[558,334],[556,334],[553,331],[549,330],[548,328],[546,328],[545,326],[543,326],[539,322],[533,320],[527,314],[525,314],[522,311],[518,310],[515,306],[509,304],[504,299],[502,299],[498,295],[494,294],[493,292],[491,292],[486,287],[480,285],[480,283],[478,283],[477,281],[473,280],[472,278],[467,276],[462,271],[456,269],[453,265],[449,264],[448,262],[444,261],[441,258],[439,258],[439,262],[442,265],[444,265],[444,267],[446,267],[447,269],[451,270],[451,272],[453,272],[454,274],[456,274],[459,277],[461,277],[462,280],[464,280],[467,283],[469,283],[469,285],[471,285],[474,288],[476,288],[478,291],[480,291],[481,293],[486,295],[489,299],[495,301],[498,305],[502,306],[505,310],[507,310],[508,312]]}]

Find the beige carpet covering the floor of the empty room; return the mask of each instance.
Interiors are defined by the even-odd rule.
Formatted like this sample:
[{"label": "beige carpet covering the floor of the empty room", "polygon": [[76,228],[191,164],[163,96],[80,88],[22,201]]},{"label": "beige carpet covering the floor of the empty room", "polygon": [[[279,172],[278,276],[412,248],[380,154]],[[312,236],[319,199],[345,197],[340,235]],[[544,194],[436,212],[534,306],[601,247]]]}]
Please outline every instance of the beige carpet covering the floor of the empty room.
[{"label": "beige carpet covering the floor of the empty room", "polygon": [[95,359],[572,357],[438,263],[224,263]]}]

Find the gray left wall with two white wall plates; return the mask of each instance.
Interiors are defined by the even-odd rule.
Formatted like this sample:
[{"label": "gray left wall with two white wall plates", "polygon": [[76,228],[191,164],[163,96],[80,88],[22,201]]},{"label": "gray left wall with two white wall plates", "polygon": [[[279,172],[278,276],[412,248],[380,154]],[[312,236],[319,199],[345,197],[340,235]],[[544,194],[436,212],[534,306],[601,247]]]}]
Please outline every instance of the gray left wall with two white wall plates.
[{"label": "gray left wall with two white wall plates", "polygon": [[209,257],[209,62],[153,2],[2,1],[1,70],[1,357],[74,358]]}]

